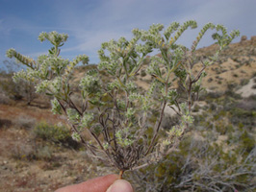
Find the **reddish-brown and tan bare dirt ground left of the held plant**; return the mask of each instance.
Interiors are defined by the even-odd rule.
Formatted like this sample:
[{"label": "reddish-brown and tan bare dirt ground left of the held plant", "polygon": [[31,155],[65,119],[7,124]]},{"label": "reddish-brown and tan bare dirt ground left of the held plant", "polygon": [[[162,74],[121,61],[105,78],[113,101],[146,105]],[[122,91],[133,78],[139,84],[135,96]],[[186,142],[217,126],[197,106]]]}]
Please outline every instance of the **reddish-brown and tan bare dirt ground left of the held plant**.
[{"label": "reddish-brown and tan bare dirt ground left of the held plant", "polygon": [[[64,185],[88,180],[108,171],[98,170],[85,152],[64,148],[45,141],[35,141],[32,128],[19,128],[18,116],[58,123],[62,118],[51,114],[49,108],[0,105],[0,191],[54,191]],[[7,121],[8,120],[8,121]],[[38,146],[48,147],[50,159],[33,159],[27,155]],[[46,149],[48,149],[46,148]]]}]

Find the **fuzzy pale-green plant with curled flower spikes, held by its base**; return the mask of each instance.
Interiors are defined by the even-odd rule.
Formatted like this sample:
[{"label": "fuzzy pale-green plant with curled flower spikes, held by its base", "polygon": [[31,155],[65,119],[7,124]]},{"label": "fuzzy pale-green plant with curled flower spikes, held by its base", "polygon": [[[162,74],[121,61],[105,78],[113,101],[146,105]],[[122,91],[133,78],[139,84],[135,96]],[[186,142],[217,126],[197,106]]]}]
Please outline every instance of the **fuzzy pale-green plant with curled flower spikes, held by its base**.
[{"label": "fuzzy pale-green plant with curled flower spikes, held by its base", "polygon": [[[28,67],[27,71],[20,71],[13,76],[15,82],[32,82],[36,84],[37,92],[54,97],[53,111],[66,115],[72,127],[72,137],[81,141],[93,156],[113,165],[122,177],[127,170],[157,161],[155,156],[162,158],[164,154],[169,154],[181,138],[191,131],[192,105],[202,91],[205,68],[218,59],[219,53],[234,37],[239,36],[238,31],[228,35],[222,25],[208,23],[196,36],[191,49],[177,44],[178,38],[188,28],[196,27],[193,20],[183,25],[173,22],[163,32],[164,25],[156,24],[148,31],[133,30],[131,40],[120,37],[102,43],[98,51],[98,69],[88,71],[80,82],[83,98],[80,107],[70,97],[72,91],[69,81],[75,66],[80,61],[88,63],[89,57],[78,56],[72,61],[62,59],[59,56],[60,47],[64,45],[67,35],[41,33],[38,39],[49,40],[53,47],[48,55],[39,56],[38,60],[22,56],[13,49],[8,50],[7,55]],[[192,66],[198,61],[195,49],[210,29],[217,31],[213,38],[219,45],[218,50],[213,56],[201,60],[199,72],[192,73]],[[152,82],[147,91],[138,92],[136,76],[152,51],[161,53],[150,58],[146,69]],[[99,71],[106,71],[112,77],[111,81],[103,84]],[[179,84],[179,90],[172,86],[175,81]],[[180,123],[158,139],[167,105],[178,108],[175,112],[180,117]],[[150,115],[153,114],[150,111],[154,110],[159,112],[151,135],[147,132],[151,125]],[[159,153],[159,149],[163,152]]]}]

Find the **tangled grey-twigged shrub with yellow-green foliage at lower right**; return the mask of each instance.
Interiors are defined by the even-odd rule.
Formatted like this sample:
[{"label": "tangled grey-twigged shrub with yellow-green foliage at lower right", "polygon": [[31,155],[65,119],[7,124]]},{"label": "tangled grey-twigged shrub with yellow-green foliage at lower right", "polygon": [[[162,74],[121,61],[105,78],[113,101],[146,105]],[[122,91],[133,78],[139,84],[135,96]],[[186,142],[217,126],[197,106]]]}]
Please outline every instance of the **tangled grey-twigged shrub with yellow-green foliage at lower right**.
[{"label": "tangled grey-twigged shrub with yellow-green foliage at lower right", "polygon": [[248,153],[243,149],[224,152],[222,146],[187,137],[179,151],[129,177],[138,192],[249,192],[255,187],[255,152],[255,145]]}]

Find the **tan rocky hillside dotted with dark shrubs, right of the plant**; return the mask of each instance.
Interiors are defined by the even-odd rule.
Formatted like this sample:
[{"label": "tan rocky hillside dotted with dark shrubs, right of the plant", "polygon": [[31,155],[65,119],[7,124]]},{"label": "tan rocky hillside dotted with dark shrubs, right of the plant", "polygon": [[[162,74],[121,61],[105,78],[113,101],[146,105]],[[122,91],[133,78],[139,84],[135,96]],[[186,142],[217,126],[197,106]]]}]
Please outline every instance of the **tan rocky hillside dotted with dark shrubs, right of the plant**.
[{"label": "tan rocky hillside dotted with dark shrubs, right of the plant", "polygon": [[[197,50],[197,54],[199,56],[213,55],[216,49],[216,45],[211,45]],[[206,72],[208,76],[203,85],[215,91],[225,90],[229,85],[239,88],[247,84],[256,76],[256,36],[250,39],[242,36],[240,42],[230,44],[221,53],[219,61],[209,67]]]}]

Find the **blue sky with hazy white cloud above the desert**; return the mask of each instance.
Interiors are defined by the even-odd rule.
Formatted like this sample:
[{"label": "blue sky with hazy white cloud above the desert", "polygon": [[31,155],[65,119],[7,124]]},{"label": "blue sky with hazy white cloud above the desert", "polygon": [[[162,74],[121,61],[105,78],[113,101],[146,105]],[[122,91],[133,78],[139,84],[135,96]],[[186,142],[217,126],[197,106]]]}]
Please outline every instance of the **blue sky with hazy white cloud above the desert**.
[{"label": "blue sky with hazy white cloud above the desert", "polygon": [[[67,34],[61,56],[72,60],[86,54],[90,63],[99,61],[102,42],[130,39],[134,28],[147,30],[153,23],[167,27],[173,21],[196,20],[198,28],[179,40],[186,46],[208,22],[223,24],[228,32],[239,29],[250,38],[256,36],[255,9],[255,0],[0,0],[0,65],[9,60],[10,48],[35,60],[46,54],[51,45],[38,40],[41,32]],[[205,37],[199,47],[213,42]]]}]

